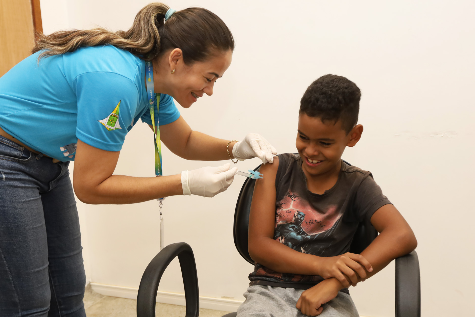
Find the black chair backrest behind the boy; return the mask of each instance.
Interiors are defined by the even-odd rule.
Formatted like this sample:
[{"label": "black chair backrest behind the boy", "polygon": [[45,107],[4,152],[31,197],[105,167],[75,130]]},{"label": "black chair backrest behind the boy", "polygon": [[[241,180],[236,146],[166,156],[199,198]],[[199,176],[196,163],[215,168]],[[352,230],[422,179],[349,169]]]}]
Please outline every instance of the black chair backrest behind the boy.
[{"label": "black chair backrest behind the boy", "polygon": [[[348,165],[350,163],[344,161]],[[261,165],[257,166],[254,171],[258,171]],[[234,211],[234,245],[239,254],[254,264],[247,250],[247,234],[249,232],[249,211],[251,209],[252,194],[254,192],[255,180],[248,178],[241,187],[239,197],[237,198],[236,210]],[[376,238],[378,231],[374,229],[369,221],[362,221],[358,225],[350,252],[360,254],[370,243]]]}]

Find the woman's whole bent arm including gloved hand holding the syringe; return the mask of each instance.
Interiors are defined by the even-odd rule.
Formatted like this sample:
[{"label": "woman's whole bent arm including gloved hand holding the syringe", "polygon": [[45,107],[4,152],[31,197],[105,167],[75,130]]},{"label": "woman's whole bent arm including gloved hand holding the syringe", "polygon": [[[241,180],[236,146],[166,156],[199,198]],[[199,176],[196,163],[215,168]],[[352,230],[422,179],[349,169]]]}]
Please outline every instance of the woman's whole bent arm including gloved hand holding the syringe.
[{"label": "woman's whole bent arm including gloved hand holding the syringe", "polygon": [[132,177],[113,175],[119,152],[100,150],[77,140],[73,185],[77,198],[90,204],[145,202],[172,195],[213,197],[234,180],[230,163],[178,175]]}]

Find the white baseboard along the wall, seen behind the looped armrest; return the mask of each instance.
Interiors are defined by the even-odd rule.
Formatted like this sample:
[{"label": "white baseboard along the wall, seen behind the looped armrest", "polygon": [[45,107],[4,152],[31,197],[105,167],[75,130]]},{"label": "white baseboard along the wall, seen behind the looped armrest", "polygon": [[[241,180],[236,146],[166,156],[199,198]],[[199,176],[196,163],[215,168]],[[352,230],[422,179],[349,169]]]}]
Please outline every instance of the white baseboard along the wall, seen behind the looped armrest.
[{"label": "white baseboard along the wall, seen behind the looped armrest", "polygon": [[[99,294],[105,296],[113,296],[120,298],[137,299],[138,288],[107,285],[100,283],[91,283],[92,289]],[[237,307],[241,305],[243,300],[228,299],[228,298],[214,298],[214,297],[199,297],[199,307],[206,309],[214,309],[221,311],[236,311]],[[185,294],[172,292],[157,292],[157,303],[172,304],[185,306]]]}]

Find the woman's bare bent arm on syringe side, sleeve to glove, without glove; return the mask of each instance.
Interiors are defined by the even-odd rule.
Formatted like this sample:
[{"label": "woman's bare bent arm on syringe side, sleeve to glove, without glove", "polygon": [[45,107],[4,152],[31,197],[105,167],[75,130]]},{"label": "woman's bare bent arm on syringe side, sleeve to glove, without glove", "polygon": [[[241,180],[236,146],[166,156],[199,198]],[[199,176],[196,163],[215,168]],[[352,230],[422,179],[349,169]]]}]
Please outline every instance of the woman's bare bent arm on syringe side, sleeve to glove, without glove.
[{"label": "woman's bare bent arm on syringe side, sleeve to glove, without glove", "polygon": [[113,175],[119,154],[77,140],[73,186],[81,202],[125,204],[183,194],[180,174],[161,177]]}]

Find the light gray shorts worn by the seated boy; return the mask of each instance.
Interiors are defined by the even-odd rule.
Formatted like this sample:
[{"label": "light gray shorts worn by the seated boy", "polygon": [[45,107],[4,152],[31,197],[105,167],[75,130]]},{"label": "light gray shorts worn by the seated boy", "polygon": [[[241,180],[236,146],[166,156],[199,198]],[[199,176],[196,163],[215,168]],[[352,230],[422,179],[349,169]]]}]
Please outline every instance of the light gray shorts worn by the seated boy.
[{"label": "light gray shorts worn by the seated boy", "polygon": [[[304,289],[254,285],[247,288],[246,300],[237,308],[237,317],[304,317],[295,307]],[[359,317],[350,295],[338,292],[323,305],[321,317]]]}]

